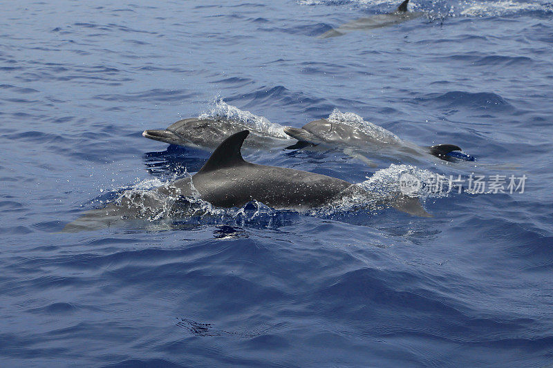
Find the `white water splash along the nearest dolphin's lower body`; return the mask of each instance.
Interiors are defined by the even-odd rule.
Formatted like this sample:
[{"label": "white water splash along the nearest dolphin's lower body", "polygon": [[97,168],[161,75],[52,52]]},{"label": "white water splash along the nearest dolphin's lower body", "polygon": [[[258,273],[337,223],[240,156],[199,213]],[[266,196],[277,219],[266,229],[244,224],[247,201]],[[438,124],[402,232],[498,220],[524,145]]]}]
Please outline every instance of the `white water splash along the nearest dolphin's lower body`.
[{"label": "white water splash along the nearest dolphin's lower body", "polygon": [[[408,187],[406,193],[402,187],[404,177],[408,175],[410,183],[415,186]],[[191,177],[187,173],[187,177]],[[156,191],[155,188],[167,186],[171,180],[162,182],[158,178],[137,182],[130,189],[118,193],[117,199],[111,205],[129,210],[129,218],[147,220],[147,222],[159,222],[161,227],[171,224],[229,224],[231,226],[282,226],[297,215],[315,217],[333,217],[355,213],[376,213],[382,209],[393,206],[400,195],[417,198],[422,203],[429,198],[447,197],[447,191],[438,191],[435,188],[437,173],[405,164],[391,164],[388,168],[377,171],[364,182],[354,184],[353,190],[340,197],[335,202],[306,211],[277,210],[270,206],[253,200],[244,206],[223,209],[212,206],[209,202],[200,198],[200,193],[194,188],[190,180],[192,195],[181,195],[180,191],[169,191],[168,195]],[[357,186],[357,187],[356,187]],[[172,187],[174,188],[174,187]],[[357,190],[359,189],[359,190]],[[367,194],[368,193],[368,194]]]}]

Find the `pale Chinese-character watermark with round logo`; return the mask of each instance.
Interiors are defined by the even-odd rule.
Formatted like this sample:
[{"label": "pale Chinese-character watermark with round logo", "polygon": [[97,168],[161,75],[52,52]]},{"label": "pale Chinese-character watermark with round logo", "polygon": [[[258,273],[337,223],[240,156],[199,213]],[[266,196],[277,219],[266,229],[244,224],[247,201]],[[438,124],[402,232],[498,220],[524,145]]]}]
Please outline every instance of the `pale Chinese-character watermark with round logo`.
[{"label": "pale Chinese-character watermark with round logo", "polygon": [[526,175],[461,175],[436,174],[425,177],[424,181],[409,173],[400,175],[400,191],[404,195],[462,193],[524,193]]}]

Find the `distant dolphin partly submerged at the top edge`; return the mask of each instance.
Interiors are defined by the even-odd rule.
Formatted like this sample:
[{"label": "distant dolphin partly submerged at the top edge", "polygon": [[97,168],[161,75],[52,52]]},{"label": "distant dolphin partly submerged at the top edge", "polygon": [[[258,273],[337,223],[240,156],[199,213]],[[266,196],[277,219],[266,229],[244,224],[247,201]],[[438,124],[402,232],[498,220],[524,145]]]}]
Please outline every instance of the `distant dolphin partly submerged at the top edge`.
[{"label": "distant dolphin partly submerged at the top edge", "polygon": [[326,39],[330,37],[342,36],[354,30],[372,30],[374,28],[393,26],[397,23],[403,23],[404,21],[422,17],[424,12],[408,12],[407,3],[409,3],[409,0],[405,0],[394,12],[388,14],[377,14],[372,17],[355,19],[355,21],[350,21],[349,23],[339,26],[336,29],[324,32],[319,36],[319,38]]}]

